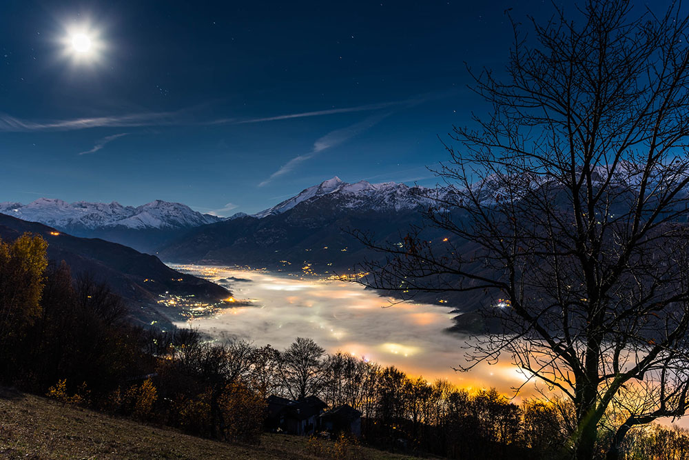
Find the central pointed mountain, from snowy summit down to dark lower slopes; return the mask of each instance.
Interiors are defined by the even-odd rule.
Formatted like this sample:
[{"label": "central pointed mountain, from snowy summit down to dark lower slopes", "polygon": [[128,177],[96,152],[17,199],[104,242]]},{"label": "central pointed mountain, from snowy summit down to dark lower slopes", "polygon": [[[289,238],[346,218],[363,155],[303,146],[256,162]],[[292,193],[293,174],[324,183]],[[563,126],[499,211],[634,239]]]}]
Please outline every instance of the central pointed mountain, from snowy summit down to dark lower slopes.
[{"label": "central pointed mountain, from snowy summit down to dark lower slopes", "polygon": [[290,272],[345,272],[371,255],[348,229],[401,241],[433,194],[449,190],[403,183],[347,183],[333,177],[251,216],[199,226],[158,249],[165,261],[265,267]]}]

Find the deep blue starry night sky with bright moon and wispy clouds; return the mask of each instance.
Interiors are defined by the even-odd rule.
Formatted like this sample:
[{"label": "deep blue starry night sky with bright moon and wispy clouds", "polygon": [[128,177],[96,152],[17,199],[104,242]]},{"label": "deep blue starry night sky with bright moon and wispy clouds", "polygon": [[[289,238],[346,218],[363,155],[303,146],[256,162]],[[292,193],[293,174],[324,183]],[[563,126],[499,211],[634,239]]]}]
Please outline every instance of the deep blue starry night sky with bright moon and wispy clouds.
[{"label": "deep blue starry night sky with bright moon and wispy clouds", "polygon": [[530,0],[2,0],[0,201],[229,215],[335,175],[432,186],[438,136],[486,109],[464,62],[504,66],[506,8],[553,13]]}]

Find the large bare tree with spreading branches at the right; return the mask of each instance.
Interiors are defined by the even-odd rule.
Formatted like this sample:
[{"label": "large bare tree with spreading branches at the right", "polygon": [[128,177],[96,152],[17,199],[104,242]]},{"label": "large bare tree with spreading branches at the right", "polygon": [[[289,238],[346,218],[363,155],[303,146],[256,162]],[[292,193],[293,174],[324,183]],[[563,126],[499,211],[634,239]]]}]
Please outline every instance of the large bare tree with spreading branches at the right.
[{"label": "large bare tree with spreading branches at the right", "polygon": [[[491,104],[455,127],[450,186],[426,212],[446,241],[413,229],[364,263],[369,286],[484,293],[499,333],[469,364],[511,357],[573,401],[572,454],[594,456],[612,420],[628,430],[689,406],[688,18],[590,0],[570,21],[513,23],[503,76],[469,71]],[[495,299],[507,301],[497,303]],[[518,389],[517,389],[518,390]]]}]

